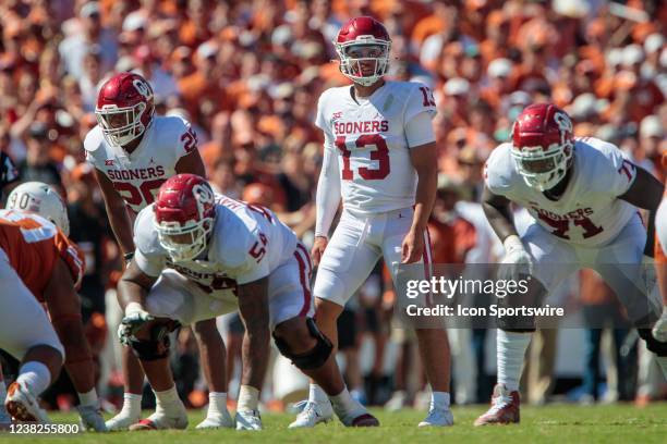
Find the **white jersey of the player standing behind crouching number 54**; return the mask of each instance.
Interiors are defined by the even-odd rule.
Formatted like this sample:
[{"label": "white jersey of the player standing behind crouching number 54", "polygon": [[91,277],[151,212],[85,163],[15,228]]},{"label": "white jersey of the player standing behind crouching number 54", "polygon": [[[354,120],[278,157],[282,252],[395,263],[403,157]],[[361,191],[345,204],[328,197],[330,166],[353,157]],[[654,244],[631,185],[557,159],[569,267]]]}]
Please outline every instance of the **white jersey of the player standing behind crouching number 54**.
[{"label": "white jersey of the player standing behind crouching number 54", "polygon": [[128,207],[138,213],[175,174],[179,159],[197,149],[197,136],[180,116],[155,116],[131,155],[109,145],[99,125],[88,132],[84,148],[86,160],[105,173]]}]

